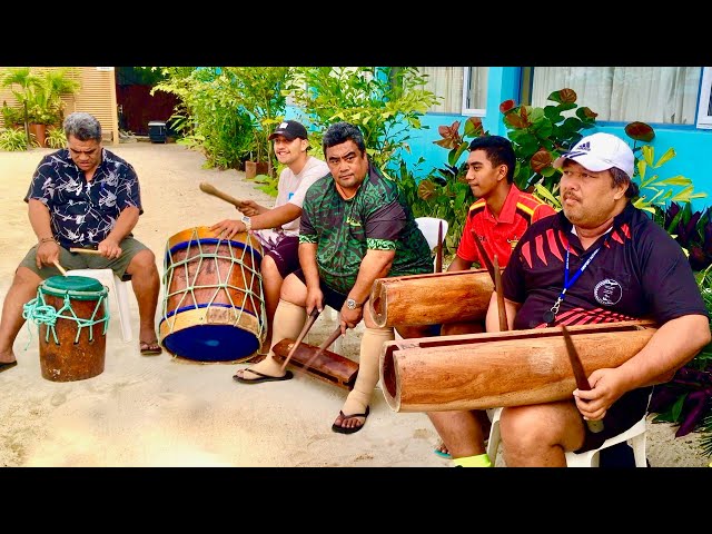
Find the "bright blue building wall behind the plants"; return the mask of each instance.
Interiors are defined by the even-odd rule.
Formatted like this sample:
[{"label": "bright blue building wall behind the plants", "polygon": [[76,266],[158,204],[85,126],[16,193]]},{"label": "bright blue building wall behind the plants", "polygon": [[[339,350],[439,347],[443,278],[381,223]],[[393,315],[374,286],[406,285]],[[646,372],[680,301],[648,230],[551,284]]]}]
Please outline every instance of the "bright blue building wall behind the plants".
[{"label": "bright blue building wall behind the plants", "polygon": [[[490,134],[500,136],[507,135],[507,129],[502,121],[500,103],[514,99],[520,102],[520,67],[491,67],[487,77],[487,107],[486,116],[483,117],[483,126]],[[585,106],[585,102],[577,102]],[[294,113],[291,115],[294,116]],[[428,171],[432,168],[442,167],[447,161],[447,150],[434,144],[442,139],[437,132],[438,126],[449,126],[455,120],[461,123],[467,119],[462,115],[449,113],[427,113],[421,118],[428,129],[414,130],[408,140],[411,154],[403,154],[403,158],[408,164],[415,164],[423,157],[425,161],[419,169]],[[655,138],[650,145],[655,149],[655,160],[660,158],[669,148],[674,148],[676,156],[664,164],[660,169],[654,170],[661,178],[672,178],[682,175],[690,178],[695,192],[706,192],[706,197],[694,199],[693,209],[703,209],[712,206],[712,130],[698,129],[694,126],[665,126],[651,123],[655,130]],[[606,131],[621,137],[633,146],[624,131],[625,122],[597,123],[595,128],[587,130]],[[462,130],[461,130],[462,131]],[[652,170],[652,169],[651,169]],[[651,170],[649,170],[647,177]]]}]

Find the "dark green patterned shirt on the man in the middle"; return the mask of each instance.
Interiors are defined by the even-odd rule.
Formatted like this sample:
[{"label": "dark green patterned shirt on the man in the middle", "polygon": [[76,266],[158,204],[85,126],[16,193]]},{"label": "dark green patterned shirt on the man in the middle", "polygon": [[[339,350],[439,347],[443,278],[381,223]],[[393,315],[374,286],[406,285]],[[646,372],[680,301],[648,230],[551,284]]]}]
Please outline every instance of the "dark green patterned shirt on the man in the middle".
[{"label": "dark green patterned shirt on the man in the middle", "polygon": [[317,244],[319,277],[344,295],[356,284],[368,249],[395,250],[388,276],[433,271],[431,248],[395,181],[368,164],[356,195],[344,200],[332,175],[319,178],[304,199],[299,243]]}]

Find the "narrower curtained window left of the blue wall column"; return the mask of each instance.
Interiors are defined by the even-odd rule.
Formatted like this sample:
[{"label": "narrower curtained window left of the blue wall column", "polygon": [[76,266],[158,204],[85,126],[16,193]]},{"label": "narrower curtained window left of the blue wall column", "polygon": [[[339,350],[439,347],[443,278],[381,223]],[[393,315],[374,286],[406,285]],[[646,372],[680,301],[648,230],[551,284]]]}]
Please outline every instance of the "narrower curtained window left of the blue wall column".
[{"label": "narrower curtained window left of the blue wall column", "polygon": [[429,112],[485,116],[488,67],[418,67],[425,89],[442,97]]}]

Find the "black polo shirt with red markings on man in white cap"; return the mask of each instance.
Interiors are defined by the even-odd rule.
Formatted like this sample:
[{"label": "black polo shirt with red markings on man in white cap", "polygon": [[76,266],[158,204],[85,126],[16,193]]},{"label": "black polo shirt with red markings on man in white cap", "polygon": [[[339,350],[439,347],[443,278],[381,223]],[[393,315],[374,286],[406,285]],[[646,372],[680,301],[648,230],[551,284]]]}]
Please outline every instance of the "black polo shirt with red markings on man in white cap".
[{"label": "black polo shirt with red markings on man in white cap", "polygon": [[[514,328],[615,323],[649,317],[659,324],[706,314],[690,263],[680,245],[643,210],[627,205],[613,229],[584,251],[563,211],[534,222],[503,273],[504,296],[523,303]],[[566,290],[555,320],[548,312],[564,287],[566,248],[570,280],[600,247]]]}]

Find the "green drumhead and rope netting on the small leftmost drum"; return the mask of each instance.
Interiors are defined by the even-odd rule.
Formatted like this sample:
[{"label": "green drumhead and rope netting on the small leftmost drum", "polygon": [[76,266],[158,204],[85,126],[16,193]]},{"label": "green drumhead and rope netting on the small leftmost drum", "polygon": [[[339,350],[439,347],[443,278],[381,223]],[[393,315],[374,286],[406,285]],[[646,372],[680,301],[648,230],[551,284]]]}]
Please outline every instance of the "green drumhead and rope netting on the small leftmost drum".
[{"label": "green drumhead and rope netting on the small leftmost drum", "polygon": [[[28,322],[39,325],[47,325],[46,342],[49,340],[50,333],[56,344],[59,344],[57,336],[57,320],[67,319],[77,323],[77,335],[75,343],[79,342],[82,328],[89,328],[89,340],[93,339],[93,325],[103,323],[106,335],[109,328],[109,306],[106,303],[109,290],[95,278],[86,276],[52,276],[40,284],[37,289],[37,297],[22,307],[22,317]],[[58,297],[62,305],[59,308],[47,303],[46,296]],[[79,317],[72,308],[72,300],[96,300],[90,317]],[[105,304],[102,306],[102,304]],[[103,310],[103,314],[101,314]]]}]

